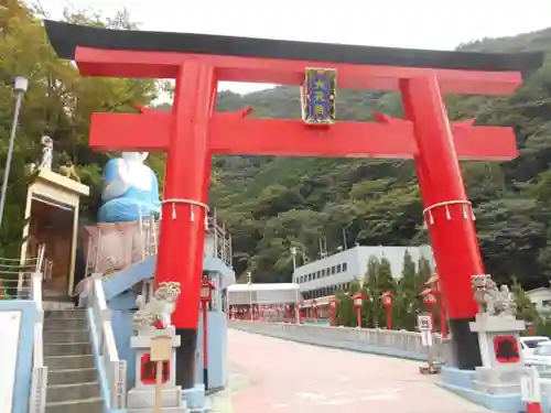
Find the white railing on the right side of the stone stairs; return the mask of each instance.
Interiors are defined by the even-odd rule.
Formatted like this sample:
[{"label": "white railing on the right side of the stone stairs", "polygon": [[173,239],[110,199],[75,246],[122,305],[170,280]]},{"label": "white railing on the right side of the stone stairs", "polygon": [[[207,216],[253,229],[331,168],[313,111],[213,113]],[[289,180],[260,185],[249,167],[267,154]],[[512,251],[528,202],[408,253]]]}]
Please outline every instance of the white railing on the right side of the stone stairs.
[{"label": "white railing on the right side of the stone stairs", "polygon": [[127,362],[119,359],[117,344],[111,326],[111,315],[105,300],[101,274],[93,276],[91,300],[93,320],[97,333],[100,362],[102,362],[109,383],[109,406],[112,410],[125,409],[127,403]]}]

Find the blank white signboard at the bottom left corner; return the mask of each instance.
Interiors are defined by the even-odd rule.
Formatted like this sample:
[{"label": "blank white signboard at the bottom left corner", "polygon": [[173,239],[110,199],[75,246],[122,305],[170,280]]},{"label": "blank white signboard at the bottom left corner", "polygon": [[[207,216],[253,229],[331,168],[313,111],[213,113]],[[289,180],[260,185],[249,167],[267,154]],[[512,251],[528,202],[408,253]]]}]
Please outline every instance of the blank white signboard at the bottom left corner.
[{"label": "blank white signboard at the bottom left corner", "polygon": [[2,372],[0,373],[0,405],[2,412],[11,412],[15,388],[21,312],[0,312],[0,337],[2,337]]}]

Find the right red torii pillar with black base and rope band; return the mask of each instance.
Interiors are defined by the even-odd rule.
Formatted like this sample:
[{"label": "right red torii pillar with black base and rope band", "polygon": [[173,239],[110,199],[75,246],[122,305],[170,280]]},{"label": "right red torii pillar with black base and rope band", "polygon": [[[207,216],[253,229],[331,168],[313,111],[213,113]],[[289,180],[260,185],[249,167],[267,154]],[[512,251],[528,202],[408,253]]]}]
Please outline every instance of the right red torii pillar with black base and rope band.
[{"label": "right red torii pillar with black base and rope band", "polygon": [[446,274],[440,285],[454,337],[454,363],[480,366],[477,338],[468,323],[478,311],[471,276],[485,272],[445,105],[434,75],[401,80],[400,90],[419,146],[414,162],[434,259],[439,273]]}]

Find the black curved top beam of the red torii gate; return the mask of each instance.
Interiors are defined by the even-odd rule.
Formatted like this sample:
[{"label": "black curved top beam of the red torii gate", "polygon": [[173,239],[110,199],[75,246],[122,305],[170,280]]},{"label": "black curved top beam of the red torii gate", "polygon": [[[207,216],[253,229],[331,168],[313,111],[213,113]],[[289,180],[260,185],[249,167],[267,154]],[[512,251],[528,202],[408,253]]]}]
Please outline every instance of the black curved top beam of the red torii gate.
[{"label": "black curved top beam of the red torii gate", "polygon": [[536,72],[543,53],[478,53],[374,47],[195,33],[121,31],[46,20],[50,42],[62,58],[77,46],[111,51],[177,52],[219,56],[309,61],[350,65],[479,72]]}]

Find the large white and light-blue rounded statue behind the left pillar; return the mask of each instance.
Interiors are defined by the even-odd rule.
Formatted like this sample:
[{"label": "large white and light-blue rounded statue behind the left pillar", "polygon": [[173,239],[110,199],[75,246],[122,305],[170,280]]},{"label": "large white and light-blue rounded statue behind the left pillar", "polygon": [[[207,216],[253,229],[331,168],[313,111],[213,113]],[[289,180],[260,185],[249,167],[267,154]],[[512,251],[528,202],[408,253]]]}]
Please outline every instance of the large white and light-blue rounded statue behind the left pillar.
[{"label": "large white and light-blue rounded statue behind the left pillar", "polygon": [[107,163],[98,221],[133,221],[159,214],[159,182],[143,163],[147,157],[147,152],[122,152]]}]

